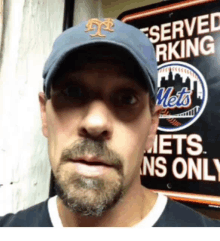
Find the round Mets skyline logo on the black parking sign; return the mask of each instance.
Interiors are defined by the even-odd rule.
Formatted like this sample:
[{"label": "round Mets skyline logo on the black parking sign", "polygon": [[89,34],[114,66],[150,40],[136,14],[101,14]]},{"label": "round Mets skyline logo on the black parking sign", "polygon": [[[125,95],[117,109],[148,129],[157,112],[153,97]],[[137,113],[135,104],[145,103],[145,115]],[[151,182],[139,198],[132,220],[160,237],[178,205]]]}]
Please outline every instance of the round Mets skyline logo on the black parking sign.
[{"label": "round Mets skyline logo on the black parking sign", "polygon": [[157,105],[163,110],[158,129],[176,132],[192,125],[203,113],[208,88],[194,66],[173,61],[158,66]]}]

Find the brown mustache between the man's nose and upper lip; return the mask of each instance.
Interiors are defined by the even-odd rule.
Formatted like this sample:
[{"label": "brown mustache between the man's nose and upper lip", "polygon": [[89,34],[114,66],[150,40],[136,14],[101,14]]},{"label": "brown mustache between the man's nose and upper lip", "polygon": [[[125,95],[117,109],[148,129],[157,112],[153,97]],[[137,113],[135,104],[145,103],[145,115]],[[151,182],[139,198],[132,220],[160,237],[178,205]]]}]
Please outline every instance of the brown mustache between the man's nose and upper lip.
[{"label": "brown mustache between the man's nose and upper lip", "polygon": [[79,159],[85,155],[93,155],[102,159],[103,164],[112,166],[120,174],[123,173],[123,158],[107,147],[106,143],[99,140],[83,139],[75,141],[69,148],[62,151],[61,163],[69,159]]}]

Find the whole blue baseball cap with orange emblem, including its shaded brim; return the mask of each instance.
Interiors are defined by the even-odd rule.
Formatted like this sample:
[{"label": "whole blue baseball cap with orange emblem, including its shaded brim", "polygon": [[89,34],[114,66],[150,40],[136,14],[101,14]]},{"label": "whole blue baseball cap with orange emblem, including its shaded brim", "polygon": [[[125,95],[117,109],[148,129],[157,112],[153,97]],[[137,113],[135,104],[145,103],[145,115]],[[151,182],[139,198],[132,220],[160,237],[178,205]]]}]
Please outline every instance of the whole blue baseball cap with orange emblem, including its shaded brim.
[{"label": "whole blue baseball cap with orange emblem, including its shaded brim", "polygon": [[[157,62],[152,43],[139,29],[117,19],[93,18],[65,30],[54,42],[43,70],[43,88],[50,99],[51,84],[66,66],[102,58],[104,49],[133,68],[138,81],[156,101]],[[99,51],[98,51],[99,50]]]}]

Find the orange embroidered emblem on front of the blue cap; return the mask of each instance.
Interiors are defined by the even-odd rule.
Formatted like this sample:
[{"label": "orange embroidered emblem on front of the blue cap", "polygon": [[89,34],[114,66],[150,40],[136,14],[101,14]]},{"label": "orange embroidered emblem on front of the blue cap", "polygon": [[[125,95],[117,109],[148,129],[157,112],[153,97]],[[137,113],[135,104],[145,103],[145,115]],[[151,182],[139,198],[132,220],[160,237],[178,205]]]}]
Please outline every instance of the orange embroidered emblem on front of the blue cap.
[{"label": "orange embroidered emblem on front of the blue cap", "polygon": [[114,26],[113,23],[114,19],[112,18],[106,18],[105,21],[100,21],[98,18],[91,18],[88,23],[86,24],[87,30],[85,32],[94,31],[96,30],[94,25],[97,27],[97,32],[95,34],[90,34],[91,37],[106,37],[106,35],[101,33],[101,30],[114,32],[113,29],[111,29]]}]

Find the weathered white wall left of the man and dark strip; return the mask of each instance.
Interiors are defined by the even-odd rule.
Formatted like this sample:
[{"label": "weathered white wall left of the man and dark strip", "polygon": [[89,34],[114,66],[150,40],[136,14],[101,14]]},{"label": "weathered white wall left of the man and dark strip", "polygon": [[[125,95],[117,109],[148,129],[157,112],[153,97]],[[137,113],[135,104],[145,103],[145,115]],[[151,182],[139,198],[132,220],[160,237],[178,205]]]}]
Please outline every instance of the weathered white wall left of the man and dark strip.
[{"label": "weathered white wall left of the man and dark strip", "polygon": [[[45,200],[50,165],[41,132],[42,69],[62,32],[63,0],[5,0],[0,58],[0,216]],[[58,11],[59,10],[59,11]]]}]

